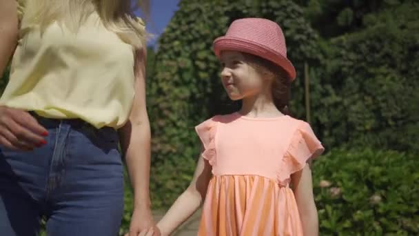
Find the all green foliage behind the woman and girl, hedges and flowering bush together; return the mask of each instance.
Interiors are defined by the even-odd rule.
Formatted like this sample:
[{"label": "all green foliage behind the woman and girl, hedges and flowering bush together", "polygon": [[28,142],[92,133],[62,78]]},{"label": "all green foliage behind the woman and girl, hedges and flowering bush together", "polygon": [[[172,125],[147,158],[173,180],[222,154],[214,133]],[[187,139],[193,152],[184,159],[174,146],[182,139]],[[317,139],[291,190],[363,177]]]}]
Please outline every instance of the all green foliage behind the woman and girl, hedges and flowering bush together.
[{"label": "all green foliage behind the woman and girl, hedges and flowering bush together", "polygon": [[[194,126],[236,110],[219,83],[212,41],[241,17],[280,24],[298,77],[290,106],[327,154],[314,162],[322,235],[419,234],[419,4],[409,0],[181,0],[147,59],[152,203],[167,208],[192,178]],[[0,87],[6,85],[8,72]],[[125,190],[121,233],[132,212]]]}]

